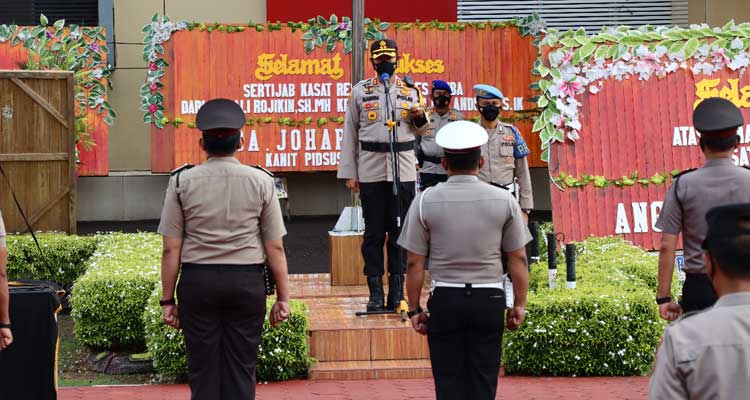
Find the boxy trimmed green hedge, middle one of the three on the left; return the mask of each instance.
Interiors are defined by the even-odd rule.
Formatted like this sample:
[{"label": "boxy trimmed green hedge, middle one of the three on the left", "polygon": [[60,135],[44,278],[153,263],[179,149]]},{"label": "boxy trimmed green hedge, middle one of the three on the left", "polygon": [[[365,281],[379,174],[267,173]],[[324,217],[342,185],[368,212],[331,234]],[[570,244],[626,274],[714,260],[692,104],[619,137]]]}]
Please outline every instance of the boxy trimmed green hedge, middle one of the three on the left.
[{"label": "boxy trimmed green hedge, middle one of the three on the left", "polygon": [[97,349],[142,348],[141,317],[159,281],[160,265],[160,236],[102,236],[86,273],[73,286],[71,314],[78,339]]}]

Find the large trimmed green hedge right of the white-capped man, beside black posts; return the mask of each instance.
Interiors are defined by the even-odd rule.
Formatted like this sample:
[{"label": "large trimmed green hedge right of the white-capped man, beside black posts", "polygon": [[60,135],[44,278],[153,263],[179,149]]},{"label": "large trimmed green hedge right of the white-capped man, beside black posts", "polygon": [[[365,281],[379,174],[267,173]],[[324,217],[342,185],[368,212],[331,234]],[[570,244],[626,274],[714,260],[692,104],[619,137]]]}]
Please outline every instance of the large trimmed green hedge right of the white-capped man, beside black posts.
[{"label": "large trimmed green hedge right of the white-capped man, beside black posts", "polygon": [[[579,244],[577,289],[565,288],[559,258],[557,288],[547,287],[547,264],[532,266],[526,322],[506,332],[509,373],[630,376],[652,366],[665,323],[654,304],[658,257],[620,238]],[[674,293],[679,292],[676,279]]]}]

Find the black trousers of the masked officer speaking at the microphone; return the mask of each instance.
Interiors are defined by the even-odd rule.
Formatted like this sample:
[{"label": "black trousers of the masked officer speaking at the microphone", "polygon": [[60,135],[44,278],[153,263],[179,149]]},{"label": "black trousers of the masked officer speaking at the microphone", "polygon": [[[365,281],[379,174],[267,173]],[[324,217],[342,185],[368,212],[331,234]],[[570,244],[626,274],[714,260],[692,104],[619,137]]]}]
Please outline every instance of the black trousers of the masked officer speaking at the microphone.
[{"label": "black trousers of the masked officer speaking at the microphone", "polygon": [[[414,200],[414,182],[401,182],[401,224]],[[372,182],[359,184],[362,200],[362,215],[365,218],[365,234],[362,242],[362,258],[365,260],[364,274],[383,275],[383,245],[388,234],[388,272],[403,274],[406,271],[406,252],[396,244],[400,228],[396,225],[396,197],[392,182]]]}]

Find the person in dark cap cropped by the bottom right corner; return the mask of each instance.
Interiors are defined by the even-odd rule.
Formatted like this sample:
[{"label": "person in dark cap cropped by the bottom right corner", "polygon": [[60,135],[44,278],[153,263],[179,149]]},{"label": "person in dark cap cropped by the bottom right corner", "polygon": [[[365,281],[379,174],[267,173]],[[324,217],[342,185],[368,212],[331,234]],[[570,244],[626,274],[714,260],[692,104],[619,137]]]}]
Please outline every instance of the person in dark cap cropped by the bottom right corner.
[{"label": "person in dark cap cropped by the bottom right corner", "polygon": [[711,209],[702,222],[708,223],[706,273],[719,300],[664,332],[648,391],[652,400],[750,394],[750,204]]}]

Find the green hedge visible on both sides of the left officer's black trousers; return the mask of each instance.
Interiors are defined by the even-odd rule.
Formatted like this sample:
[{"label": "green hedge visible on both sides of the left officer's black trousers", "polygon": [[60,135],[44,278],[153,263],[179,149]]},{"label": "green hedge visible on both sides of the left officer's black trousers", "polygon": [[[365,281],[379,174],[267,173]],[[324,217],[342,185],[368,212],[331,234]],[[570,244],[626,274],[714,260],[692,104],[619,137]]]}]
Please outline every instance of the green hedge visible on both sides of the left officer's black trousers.
[{"label": "green hedge visible on both sides of the left officer's black trousers", "polygon": [[[176,331],[162,322],[159,298],[161,288],[154,289],[143,313],[146,326],[146,344],[154,360],[154,368],[165,378],[187,374],[185,343],[182,331]],[[270,311],[273,299],[267,301]],[[272,328],[268,316],[263,323],[263,336],[258,353],[256,376],[259,381],[281,381],[307,372],[312,359],[307,342],[308,325],[305,303],[291,301],[292,315],[288,321]]]}]

